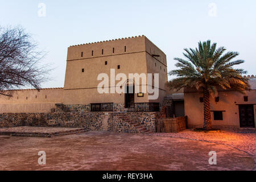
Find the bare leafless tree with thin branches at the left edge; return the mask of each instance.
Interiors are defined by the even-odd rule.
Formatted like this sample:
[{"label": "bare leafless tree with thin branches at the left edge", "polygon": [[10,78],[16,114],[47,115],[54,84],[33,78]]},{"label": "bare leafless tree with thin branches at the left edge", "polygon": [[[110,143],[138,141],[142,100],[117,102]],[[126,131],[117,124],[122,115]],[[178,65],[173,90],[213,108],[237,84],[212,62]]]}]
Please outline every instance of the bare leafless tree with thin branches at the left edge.
[{"label": "bare leafless tree with thin branches at the left edge", "polygon": [[0,94],[11,97],[10,90],[48,81],[49,65],[41,65],[45,53],[20,27],[0,27]]}]

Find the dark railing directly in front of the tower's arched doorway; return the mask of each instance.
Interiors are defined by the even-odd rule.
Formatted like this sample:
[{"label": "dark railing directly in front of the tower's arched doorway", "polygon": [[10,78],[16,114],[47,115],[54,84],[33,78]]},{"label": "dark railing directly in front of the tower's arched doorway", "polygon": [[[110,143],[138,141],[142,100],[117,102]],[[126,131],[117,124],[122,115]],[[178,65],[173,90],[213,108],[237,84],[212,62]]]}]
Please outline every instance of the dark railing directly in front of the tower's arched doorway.
[{"label": "dark railing directly in front of the tower's arched doorway", "polygon": [[160,110],[157,102],[128,103],[128,112],[158,112]]}]

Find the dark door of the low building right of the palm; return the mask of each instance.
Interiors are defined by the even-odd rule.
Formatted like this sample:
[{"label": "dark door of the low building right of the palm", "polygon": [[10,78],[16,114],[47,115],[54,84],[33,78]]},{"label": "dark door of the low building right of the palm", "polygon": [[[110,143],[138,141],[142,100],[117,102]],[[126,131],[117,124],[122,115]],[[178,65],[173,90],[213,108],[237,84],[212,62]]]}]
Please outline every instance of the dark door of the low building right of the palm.
[{"label": "dark door of the low building right of the palm", "polygon": [[239,105],[240,127],[255,128],[253,105]]}]

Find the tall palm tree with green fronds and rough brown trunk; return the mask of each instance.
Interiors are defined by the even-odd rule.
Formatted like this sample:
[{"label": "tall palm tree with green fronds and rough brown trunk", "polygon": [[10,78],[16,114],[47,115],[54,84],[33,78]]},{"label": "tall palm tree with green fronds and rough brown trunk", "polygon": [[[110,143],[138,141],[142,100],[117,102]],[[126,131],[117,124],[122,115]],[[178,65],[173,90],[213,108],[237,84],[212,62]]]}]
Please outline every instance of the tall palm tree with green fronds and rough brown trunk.
[{"label": "tall palm tree with green fronds and rough brown trunk", "polygon": [[170,76],[176,76],[168,82],[171,89],[180,90],[181,88],[196,88],[197,91],[203,91],[204,94],[204,129],[212,129],[210,118],[210,95],[217,96],[217,89],[232,89],[245,94],[249,89],[248,79],[243,77],[246,71],[243,69],[234,69],[234,65],[244,63],[243,60],[232,61],[239,55],[238,52],[227,52],[220,47],[216,49],[217,44],[199,42],[196,49],[184,49],[183,55],[187,60],[175,58],[178,63],[177,68],[169,72]]}]

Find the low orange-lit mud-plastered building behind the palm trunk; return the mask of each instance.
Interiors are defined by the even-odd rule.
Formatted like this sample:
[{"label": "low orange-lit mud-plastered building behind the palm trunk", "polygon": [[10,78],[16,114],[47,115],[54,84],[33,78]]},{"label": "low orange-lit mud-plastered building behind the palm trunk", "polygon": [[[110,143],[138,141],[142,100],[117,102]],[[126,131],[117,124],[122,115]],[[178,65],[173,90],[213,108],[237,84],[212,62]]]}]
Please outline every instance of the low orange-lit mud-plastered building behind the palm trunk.
[{"label": "low orange-lit mud-plastered building behind the palm trunk", "polygon": [[[210,97],[212,124],[215,128],[254,128],[256,118],[256,77],[250,78],[251,90],[243,95],[233,90],[218,90],[218,97]],[[203,92],[184,89],[185,115],[191,128],[203,127]]]}]

